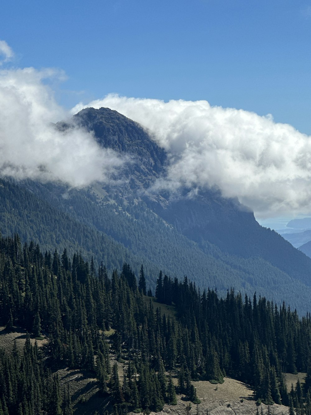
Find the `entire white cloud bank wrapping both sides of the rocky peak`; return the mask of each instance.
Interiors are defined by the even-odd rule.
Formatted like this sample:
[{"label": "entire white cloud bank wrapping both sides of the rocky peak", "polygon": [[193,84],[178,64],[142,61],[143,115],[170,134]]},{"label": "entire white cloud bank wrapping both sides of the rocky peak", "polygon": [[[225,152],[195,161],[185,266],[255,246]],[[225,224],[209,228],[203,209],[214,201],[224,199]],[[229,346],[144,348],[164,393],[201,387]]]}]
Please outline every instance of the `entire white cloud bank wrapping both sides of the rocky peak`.
[{"label": "entire white cloud bank wrapping both sides of the rocky peak", "polygon": [[[0,65],[14,58],[0,41]],[[102,149],[83,129],[61,132],[51,124],[69,117],[47,81],[63,79],[47,68],[0,70],[0,175],[63,181],[87,186],[111,182],[124,159]],[[126,98],[107,95],[84,107],[109,107],[139,122],[169,154],[167,175],[158,189],[218,186],[238,196],[256,217],[311,213],[311,137],[272,116],[207,101]]]}]

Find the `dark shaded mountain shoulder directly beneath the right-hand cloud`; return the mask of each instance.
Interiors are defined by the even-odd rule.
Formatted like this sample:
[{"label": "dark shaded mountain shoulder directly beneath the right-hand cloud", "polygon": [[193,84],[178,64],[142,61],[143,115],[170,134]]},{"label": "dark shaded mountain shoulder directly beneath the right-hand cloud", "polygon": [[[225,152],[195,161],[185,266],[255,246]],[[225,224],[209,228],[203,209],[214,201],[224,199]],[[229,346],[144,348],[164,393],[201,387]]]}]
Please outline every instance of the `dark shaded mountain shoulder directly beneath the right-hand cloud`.
[{"label": "dark shaded mountain shoulder directly beneath the right-hand cloud", "polygon": [[293,278],[311,284],[309,258],[274,230],[260,226],[238,200],[224,199],[219,192],[209,190],[195,199],[185,195],[159,210],[165,220],[200,246],[208,241],[228,254],[265,259]]}]

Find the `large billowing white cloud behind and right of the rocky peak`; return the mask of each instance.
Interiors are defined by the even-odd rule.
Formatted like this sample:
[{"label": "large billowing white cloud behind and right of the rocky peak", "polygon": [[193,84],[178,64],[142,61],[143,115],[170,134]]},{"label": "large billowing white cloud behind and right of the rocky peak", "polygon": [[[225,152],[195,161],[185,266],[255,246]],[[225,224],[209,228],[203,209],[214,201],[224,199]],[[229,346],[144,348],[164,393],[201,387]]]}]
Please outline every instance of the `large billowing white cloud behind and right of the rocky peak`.
[{"label": "large billowing white cloud behind and right of the rocky peak", "polygon": [[109,107],[141,125],[170,154],[167,177],[158,186],[218,186],[238,196],[256,217],[311,212],[311,137],[207,101],[126,98],[107,95],[83,107]]}]

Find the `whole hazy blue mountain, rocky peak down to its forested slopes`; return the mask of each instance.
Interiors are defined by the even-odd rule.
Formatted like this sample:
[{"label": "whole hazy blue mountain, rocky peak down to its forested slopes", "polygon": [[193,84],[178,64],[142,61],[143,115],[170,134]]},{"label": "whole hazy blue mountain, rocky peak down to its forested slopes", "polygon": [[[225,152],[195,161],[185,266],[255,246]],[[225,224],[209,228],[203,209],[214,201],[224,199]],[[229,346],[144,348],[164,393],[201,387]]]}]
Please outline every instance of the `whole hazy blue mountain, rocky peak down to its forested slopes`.
[{"label": "whole hazy blue mountain, rocky peak down to its forested slopes", "polygon": [[[184,275],[201,288],[231,287],[242,294],[283,300],[301,313],[311,310],[311,259],[276,232],[261,227],[253,212],[219,189],[155,192],[169,156],[138,123],[108,108],[87,108],[58,129],[82,127],[104,148],[129,163],[109,185],[71,189],[60,183],[2,180],[1,231],[19,232],[43,249],[81,250],[108,269],[144,265],[154,292],[160,270]],[[121,254],[120,254],[121,253]]]}]

